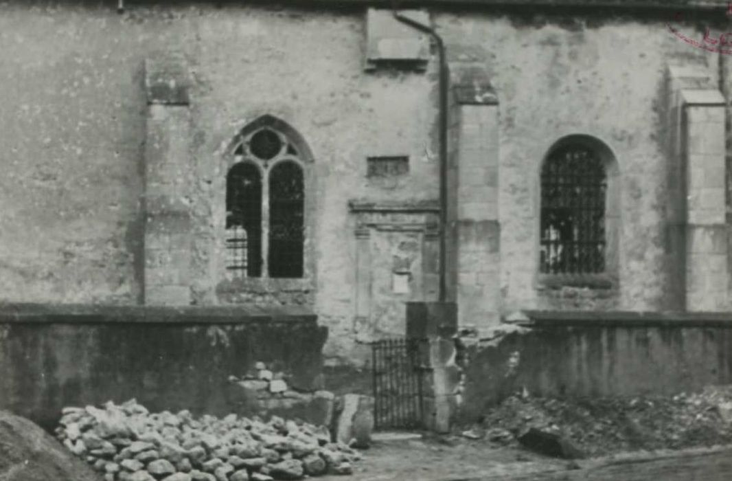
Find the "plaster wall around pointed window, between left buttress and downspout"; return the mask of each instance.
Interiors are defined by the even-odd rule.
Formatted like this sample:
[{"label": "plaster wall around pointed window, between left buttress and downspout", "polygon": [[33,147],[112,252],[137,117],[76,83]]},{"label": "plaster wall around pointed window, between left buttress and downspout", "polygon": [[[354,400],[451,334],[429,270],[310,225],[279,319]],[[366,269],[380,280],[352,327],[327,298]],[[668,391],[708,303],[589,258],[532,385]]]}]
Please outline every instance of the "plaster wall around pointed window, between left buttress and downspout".
[{"label": "plaster wall around pointed window, between left buttress and downspout", "polygon": [[[350,357],[353,346],[355,236],[349,198],[436,198],[436,159],[430,127],[436,112],[425,75],[362,72],[362,15],[230,10],[197,20],[198,94],[195,146],[202,181],[194,205],[201,216],[216,206],[203,184],[223,191],[215,167],[231,137],[270,113],[291,124],[313,151],[315,163],[315,311],[329,327],[326,354]],[[272,36],[271,32],[277,35]],[[328,45],[327,50],[323,45]],[[408,186],[379,190],[366,182],[366,157],[407,154]],[[201,283],[217,278],[208,232],[197,236]],[[212,284],[199,286],[204,293]],[[212,301],[212,295],[202,296]]]}]

